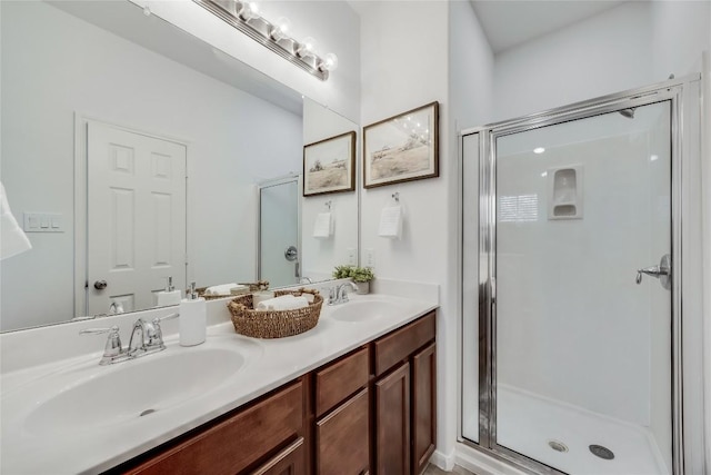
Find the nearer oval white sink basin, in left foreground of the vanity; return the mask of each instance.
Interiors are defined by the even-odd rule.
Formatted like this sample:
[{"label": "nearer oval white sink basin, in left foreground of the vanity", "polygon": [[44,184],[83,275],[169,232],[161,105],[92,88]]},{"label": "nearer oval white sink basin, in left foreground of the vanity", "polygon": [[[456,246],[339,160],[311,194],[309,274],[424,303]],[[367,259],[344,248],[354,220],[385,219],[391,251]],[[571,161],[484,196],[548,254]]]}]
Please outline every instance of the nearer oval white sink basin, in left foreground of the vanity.
[{"label": "nearer oval white sink basin, in left foreground of the vanity", "polygon": [[[60,378],[53,396],[27,415],[33,434],[91,431],[137,420],[204,396],[254,358],[251,342],[169,346],[156,355],[92,368],[80,377]],[[93,365],[92,365],[93,366]]]}]

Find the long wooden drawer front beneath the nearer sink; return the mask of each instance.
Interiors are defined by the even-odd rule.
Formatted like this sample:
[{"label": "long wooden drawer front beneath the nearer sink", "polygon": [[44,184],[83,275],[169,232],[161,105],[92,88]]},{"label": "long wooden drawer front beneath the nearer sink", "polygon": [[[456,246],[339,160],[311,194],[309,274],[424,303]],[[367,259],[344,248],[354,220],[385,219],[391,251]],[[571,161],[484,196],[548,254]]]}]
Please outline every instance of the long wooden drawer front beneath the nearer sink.
[{"label": "long wooden drawer front beneath the nearer sink", "polygon": [[300,379],[127,473],[233,475],[279,448],[302,427]]}]

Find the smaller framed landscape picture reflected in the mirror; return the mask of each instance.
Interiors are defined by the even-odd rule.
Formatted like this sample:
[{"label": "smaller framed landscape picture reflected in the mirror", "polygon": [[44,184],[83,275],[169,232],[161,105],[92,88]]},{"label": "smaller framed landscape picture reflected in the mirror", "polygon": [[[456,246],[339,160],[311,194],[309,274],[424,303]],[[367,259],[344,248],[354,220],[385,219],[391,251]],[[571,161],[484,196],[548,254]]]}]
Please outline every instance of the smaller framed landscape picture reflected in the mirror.
[{"label": "smaller framed landscape picture reflected in the mirror", "polygon": [[303,196],[356,189],[356,132],[303,146]]}]

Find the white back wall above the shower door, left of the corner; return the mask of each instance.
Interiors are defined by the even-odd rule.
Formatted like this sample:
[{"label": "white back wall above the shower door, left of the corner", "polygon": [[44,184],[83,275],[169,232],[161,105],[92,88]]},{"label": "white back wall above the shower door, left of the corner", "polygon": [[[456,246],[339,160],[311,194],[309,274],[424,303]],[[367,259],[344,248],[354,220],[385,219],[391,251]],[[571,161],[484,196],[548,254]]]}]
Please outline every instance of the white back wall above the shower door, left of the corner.
[{"label": "white back wall above the shower door, left of the corner", "polygon": [[648,2],[627,2],[498,55],[494,119],[654,82],[650,19]]}]

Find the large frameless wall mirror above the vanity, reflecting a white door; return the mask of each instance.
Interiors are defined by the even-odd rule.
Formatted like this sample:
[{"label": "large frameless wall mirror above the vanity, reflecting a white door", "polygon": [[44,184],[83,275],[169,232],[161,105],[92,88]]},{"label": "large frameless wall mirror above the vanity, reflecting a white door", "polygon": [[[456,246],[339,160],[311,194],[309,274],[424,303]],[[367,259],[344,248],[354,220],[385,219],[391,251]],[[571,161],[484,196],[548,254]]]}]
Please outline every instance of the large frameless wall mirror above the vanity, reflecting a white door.
[{"label": "large frameless wall mirror above the vanity, reflecting a white door", "polygon": [[[299,186],[304,144],[354,122],[128,0],[0,9],[0,179],[32,244],[0,261],[1,330],[150,308],[169,276],[270,280],[274,260],[273,284],[328,278],[357,249],[357,191],[334,195],[330,243],[298,188],[289,216],[260,216],[260,190]],[[282,224],[298,261],[260,261]]]}]

